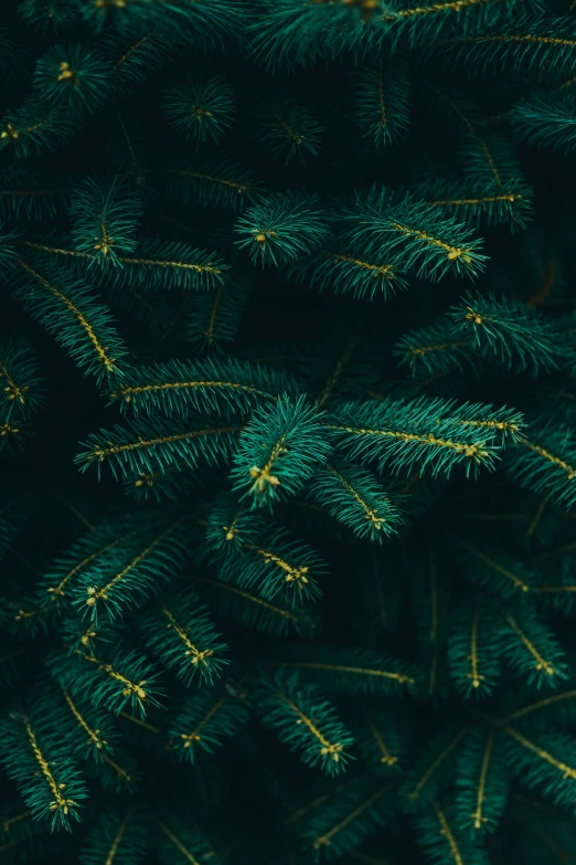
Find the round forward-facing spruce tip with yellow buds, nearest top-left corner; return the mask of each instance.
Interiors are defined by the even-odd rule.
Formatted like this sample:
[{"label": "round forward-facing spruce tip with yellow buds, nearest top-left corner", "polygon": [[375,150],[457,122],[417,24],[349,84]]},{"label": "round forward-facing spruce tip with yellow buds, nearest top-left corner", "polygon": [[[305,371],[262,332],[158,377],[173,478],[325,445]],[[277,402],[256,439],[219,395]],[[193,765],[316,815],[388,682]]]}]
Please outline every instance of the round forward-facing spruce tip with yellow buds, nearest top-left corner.
[{"label": "round forward-facing spruce tip with yellow buds, nearest top-left corner", "polygon": [[36,63],[34,86],[60,108],[94,112],[110,95],[110,68],[89,48],[53,45]]}]

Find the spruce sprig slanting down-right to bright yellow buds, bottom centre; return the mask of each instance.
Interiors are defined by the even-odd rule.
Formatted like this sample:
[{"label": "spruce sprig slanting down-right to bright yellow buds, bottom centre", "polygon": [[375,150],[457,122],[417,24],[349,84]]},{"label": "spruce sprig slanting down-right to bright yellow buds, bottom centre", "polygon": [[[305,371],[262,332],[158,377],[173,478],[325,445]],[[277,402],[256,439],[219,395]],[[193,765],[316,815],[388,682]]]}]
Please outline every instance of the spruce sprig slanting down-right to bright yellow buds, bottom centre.
[{"label": "spruce sprig slanting down-right to bright yellow buds, bottom centre", "polygon": [[320,764],[326,774],[340,774],[354,742],[331,703],[297,674],[260,678],[256,694],[263,724],[277,730],[280,741],[299,751],[302,762]]}]

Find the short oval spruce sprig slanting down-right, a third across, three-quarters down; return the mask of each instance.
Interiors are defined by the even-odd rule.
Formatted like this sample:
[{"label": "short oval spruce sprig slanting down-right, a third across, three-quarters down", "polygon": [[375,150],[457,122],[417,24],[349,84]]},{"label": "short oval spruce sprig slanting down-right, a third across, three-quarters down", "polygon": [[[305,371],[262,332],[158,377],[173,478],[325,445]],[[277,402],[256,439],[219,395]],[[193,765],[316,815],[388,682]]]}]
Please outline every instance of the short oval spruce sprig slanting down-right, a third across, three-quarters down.
[{"label": "short oval spruce sprig slanting down-right, a third across, three-quarters down", "polygon": [[230,663],[223,657],[227,646],[216,632],[207,606],[189,590],[164,598],[145,619],[141,629],[152,654],[186,685],[196,674],[201,682],[212,683]]}]

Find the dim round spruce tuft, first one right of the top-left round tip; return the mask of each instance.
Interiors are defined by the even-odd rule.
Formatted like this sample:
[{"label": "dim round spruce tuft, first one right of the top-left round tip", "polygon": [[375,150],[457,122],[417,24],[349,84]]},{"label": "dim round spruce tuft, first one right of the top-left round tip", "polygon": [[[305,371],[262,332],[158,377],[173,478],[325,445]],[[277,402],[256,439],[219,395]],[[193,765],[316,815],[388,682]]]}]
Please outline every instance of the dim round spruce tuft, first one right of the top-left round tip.
[{"label": "dim round spruce tuft, first one right of the top-left round tip", "polygon": [[206,140],[217,144],[232,126],[234,94],[223,75],[198,81],[189,76],[164,93],[162,107],[174,133],[200,147]]}]

